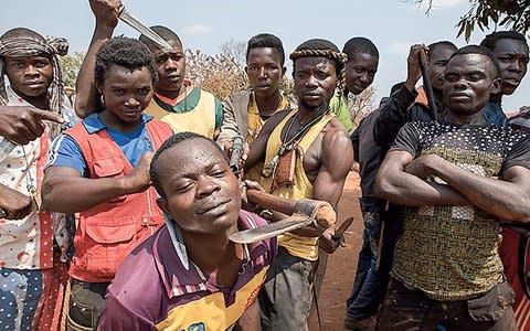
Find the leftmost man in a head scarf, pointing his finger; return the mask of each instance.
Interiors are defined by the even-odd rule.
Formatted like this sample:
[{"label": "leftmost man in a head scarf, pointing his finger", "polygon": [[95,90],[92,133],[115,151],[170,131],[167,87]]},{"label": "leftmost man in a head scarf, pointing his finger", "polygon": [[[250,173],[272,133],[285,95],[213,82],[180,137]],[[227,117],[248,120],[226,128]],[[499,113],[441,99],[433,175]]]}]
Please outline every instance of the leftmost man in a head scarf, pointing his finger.
[{"label": "leftmost man in a head scarf, pointing his finger", "polygon": [[24,28],[0,36],[0,118],[7,119],[0,130],[0,321],[9,330],[59,328],[66,220],[39,212],[39,205],[50,141],[60,122],[75,119],[59,66],[66,52],[64,39],[46,40]]}]

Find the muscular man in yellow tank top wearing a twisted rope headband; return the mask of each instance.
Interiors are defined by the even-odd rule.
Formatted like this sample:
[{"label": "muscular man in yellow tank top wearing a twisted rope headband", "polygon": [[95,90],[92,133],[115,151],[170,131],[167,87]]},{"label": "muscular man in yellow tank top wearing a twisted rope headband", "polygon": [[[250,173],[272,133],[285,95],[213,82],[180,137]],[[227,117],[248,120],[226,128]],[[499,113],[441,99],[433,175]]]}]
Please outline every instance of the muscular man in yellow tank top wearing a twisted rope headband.
[{"label": "muscular man in yellow tank top wearing a twisted rope headband", "polygon": [[[245,170],[263,161],[261,184],[267,193],[322,200],[337,207],[353,151],[329,100],[337,87],[343,90],[346,55],[333,43],[315,39],[300,44],[290,58],[298,107],[267,120],[251,145]],[[324,263],[318,253],[321,234],[300,229],[278,237],[278,256],[259,295],[264,330],[308,329],[316,265]],[[321,237],[328,252],[337,247],[332,234],[331,228]]]}]

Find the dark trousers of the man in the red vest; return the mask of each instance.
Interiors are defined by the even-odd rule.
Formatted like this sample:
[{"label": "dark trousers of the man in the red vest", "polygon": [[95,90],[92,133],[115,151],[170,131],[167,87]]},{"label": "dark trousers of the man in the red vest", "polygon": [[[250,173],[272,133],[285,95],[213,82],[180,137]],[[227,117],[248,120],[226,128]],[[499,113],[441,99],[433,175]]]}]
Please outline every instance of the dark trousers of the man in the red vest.
[{"label": "dark trousers of the man in the red vest", "polygon": [[67,331],[96,330],[105,308],[105,292],[110,282],[86,282],[70,280],[70,309]]}]

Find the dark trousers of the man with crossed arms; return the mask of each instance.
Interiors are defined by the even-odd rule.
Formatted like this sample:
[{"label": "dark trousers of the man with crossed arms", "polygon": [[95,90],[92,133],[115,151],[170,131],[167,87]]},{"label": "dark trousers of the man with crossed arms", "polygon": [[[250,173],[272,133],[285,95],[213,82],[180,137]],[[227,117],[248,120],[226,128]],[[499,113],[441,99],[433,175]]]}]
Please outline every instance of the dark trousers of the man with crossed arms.
[{"label": "dark trousers of the man with crossed arms", "polygon": [[392,278],[375,329],[432,331],[443,323],[447,331],[516,331],[512,302],[507,281],[469,300],[437,301]]}]

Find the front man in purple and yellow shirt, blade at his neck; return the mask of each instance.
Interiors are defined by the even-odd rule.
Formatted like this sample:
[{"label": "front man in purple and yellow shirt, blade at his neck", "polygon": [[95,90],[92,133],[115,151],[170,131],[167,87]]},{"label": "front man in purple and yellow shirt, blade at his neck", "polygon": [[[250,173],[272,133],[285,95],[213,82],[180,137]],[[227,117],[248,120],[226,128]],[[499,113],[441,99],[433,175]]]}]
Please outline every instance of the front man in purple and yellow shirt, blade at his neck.
[{"label": "front man in purple and yellow shirt, blade at his neck", "polygon": [[166,226],[118,268],[99,330],[261,330],[255,300],[276,238],[229,239],[267,222],[241,210],[237,179],[219,146],[177,134],[152,158],[150,177]]}]

